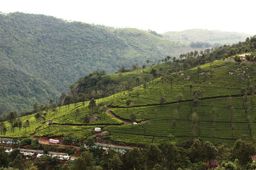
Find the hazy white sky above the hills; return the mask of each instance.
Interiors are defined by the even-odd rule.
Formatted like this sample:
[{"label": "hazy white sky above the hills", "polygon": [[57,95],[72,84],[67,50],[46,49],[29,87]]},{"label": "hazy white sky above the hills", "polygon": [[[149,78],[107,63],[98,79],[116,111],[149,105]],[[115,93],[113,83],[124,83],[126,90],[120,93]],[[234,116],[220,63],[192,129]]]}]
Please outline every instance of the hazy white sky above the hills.
[{"label": "hazy white sky above the hills", "polygon": [[113,27],[219,29],[256,34],[255,0],[0,0],[0,11],[51,15]]}]

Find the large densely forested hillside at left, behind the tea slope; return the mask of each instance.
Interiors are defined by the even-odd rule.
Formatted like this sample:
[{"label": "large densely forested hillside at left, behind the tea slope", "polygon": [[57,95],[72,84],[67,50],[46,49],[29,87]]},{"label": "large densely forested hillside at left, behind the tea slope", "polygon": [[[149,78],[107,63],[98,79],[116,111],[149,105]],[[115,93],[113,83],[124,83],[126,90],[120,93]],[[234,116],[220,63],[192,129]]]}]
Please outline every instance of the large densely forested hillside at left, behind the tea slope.
[{"label": "large densely forested hillside at left, behind the tea slope", "polygon": [[188,52],[138,29],[113,29],[45,15],[0,14],[0,114],[57,100],[84,74]]}]

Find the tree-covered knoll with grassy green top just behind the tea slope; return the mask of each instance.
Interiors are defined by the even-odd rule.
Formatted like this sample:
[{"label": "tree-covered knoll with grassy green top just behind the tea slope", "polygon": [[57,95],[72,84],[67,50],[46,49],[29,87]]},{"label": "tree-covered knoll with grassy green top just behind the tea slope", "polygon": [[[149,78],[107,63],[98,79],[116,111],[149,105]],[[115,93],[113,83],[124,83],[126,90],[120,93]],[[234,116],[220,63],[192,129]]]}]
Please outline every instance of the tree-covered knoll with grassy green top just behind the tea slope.
[{"label": "tree-covered knoll with grassy green top just behind the tea slope", "polygon": [[[150,65],[150,62],[148,61],[146,65]],[[139,68],[134,65],[133,71],[125,69],[125,67],[118,69],[120,73],[115,74],[94,71],[79,78],[76,83],[70,85],[70,90],[67,94],[61,96],[60,101],[61,104],[77,103],[79,101],[108,97],[124,90],[131,90],[133,87],[145,85],[145,83],[152,80],[153,74],[150,74],[151,69],[155,69],[160,76],[168,73],[174,65],[175,62],[170,62],[166,59],[164,63],[148,67],[144,65]]]}]

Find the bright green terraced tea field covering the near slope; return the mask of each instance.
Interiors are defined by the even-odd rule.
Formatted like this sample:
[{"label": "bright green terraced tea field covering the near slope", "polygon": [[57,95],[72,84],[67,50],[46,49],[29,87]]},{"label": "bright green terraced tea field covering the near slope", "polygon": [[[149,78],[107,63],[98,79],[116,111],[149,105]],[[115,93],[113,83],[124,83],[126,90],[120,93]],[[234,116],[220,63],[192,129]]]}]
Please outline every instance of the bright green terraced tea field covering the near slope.
[{"label": "bright green terraced tea field covering the near slope", "polygon": [[[98,99],[97,113],[87,124],[84,117],[91,112],[88,102],[84,106],[70,104],[56,113],[46,113],[45,120],[39,122],[34,115],[22,117],[22,121],[31,122],[30,127],[8,131],[5,136],[87,138],[97,126],[109,131],[106,138],[125,143],[202,138],[232,145],[237,138],[251,140],[256,135],[255,74],[253,65],[216,60]],[[115,117],[105,112],[108,109]],[[124,124],[122,120],[129,120],[132,113],[138,124]],[[10,128],[9,122],[5,124]]]}]

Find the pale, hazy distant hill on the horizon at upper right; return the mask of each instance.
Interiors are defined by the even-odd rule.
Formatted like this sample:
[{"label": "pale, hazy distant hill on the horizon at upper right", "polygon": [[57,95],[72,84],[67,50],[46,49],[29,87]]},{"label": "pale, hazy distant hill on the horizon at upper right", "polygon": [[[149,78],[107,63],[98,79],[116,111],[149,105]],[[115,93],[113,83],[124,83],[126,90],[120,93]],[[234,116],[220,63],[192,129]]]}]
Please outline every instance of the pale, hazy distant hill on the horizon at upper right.
[{"label": "pale, hazy distant hill on the horizon at upper right", "polygon": [[169,31],[164,32],[165,38],[171,39],[175,42],[180,43],[195,43],[204,42],[214,44],[231,44],[238,43],[239,41],[245,41],[246,38],[252,36],[250,34],[244,34],[239,32],[225,32],[218,30],[207,30],[207,29],[188,29],[185,31]]}]

